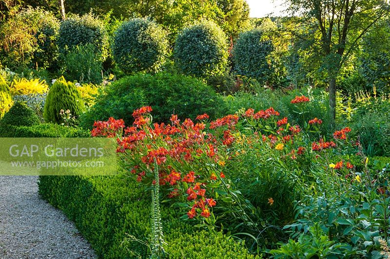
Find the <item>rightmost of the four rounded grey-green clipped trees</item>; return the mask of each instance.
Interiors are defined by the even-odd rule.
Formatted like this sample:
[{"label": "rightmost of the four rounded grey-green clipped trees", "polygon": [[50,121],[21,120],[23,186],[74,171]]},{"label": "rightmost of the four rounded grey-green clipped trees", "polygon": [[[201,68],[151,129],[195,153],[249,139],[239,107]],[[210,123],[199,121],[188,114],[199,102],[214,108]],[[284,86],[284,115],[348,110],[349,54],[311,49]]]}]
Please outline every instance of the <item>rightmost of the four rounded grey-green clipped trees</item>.
[{"label": "rightmost of the four rounded grey-green clipped trees", "polygon": [[233,47],[234,69],[239,75],[266,82],[273,73],[272,52],[272,41],[265,37],[263,30],[241,33]]}]

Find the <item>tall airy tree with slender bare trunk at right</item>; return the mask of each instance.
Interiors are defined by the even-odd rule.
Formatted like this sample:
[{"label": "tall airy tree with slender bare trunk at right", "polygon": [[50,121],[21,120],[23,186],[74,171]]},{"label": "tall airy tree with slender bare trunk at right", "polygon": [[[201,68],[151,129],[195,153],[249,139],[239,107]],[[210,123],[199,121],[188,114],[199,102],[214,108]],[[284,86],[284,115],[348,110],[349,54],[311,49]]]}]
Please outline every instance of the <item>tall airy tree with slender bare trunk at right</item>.
[{"label": "tall airy tree with slender bare trunk at right", "polygon": [[[360,39],[389,14],[387,0],[287,0],[297,24],[291,33],[308,42],[329,83],[329,108],[334,125],[336,78]],[[305,30],[301,30],[304,27]]]}]

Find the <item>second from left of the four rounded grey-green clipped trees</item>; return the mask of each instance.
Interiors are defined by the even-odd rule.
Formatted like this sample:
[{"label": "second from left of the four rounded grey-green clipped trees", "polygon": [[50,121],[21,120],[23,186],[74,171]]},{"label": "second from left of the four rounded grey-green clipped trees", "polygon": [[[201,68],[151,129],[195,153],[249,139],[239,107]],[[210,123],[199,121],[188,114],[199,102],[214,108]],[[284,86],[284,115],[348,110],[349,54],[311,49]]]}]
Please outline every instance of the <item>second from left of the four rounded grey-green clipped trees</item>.
[{"label": "second from left of the four rounded grey-green clipped trees", "polygon": [[165,32],[149,19],[129,20],[115,32],[113,55],[124,72],[156,72],[167,52]]}]

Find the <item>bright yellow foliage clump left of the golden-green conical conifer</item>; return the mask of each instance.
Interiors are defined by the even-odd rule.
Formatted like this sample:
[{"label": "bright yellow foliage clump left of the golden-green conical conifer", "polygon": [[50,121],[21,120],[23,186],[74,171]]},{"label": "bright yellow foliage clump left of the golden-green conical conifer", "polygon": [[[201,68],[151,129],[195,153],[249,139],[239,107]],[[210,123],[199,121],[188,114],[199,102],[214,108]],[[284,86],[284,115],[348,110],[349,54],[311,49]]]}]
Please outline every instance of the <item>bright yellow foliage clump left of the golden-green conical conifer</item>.
[{"label": "bright yellow foliage clump left of the golden-green conical conifer", "polygon": [[43,94],[47,92],[48,86],[44,80],[26,78],[14,79],[11,84],[11,95]]}]

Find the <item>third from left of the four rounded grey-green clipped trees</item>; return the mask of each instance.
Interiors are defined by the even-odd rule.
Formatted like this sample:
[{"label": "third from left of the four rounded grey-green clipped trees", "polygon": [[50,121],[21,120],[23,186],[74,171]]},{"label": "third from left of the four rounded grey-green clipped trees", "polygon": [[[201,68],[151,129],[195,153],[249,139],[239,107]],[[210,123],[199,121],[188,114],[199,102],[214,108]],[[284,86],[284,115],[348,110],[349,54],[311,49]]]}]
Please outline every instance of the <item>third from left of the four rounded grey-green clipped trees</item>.
[{"label": "third from left of the four rounded grey-green clipped trees", "polygon": [[174,57],[186,75],[208,78],[222,74],[228,64],[226,35],[210,21],[186,28],[176,38]]}]

